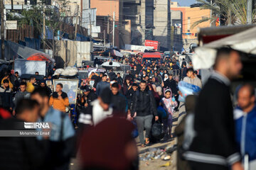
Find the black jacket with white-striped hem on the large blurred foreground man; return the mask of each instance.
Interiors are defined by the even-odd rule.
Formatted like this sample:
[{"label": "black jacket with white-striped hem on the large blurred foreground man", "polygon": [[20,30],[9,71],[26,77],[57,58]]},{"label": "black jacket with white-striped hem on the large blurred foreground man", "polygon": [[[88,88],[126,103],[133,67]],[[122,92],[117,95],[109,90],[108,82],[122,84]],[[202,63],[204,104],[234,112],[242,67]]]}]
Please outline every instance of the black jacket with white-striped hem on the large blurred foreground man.
[{"label": "black jacket with white-striped hem on the large blurred foreground man", "polygon": [[195,137],[186,159],[222,166],[240,161],[228,78],[214,73],[208,79],[198,96],[193,128]]}]

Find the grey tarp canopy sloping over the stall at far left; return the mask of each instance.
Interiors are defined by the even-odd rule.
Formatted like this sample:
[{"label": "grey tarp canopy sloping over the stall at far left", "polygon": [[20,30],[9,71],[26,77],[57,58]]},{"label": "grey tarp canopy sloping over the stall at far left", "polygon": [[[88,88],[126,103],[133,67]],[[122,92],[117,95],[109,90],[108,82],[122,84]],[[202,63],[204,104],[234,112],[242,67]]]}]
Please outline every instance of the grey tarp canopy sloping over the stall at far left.
[{"label": "grey tarp canopy sloping over the stall at far left", "polygon": [[43,55],[44,57],[46,57],[51,62],[55,62],[55,60],[50,58],[46,53],[35,50],[33,48],[19,45],[15,42],[11,42],[11,41],[7,41],[7,45],[9,45],[9,47],[11,47],[11,50],[14,51],[17,55],[21,56],[23,59],[27,60],[29,57],[39,53],[39,54]]}]

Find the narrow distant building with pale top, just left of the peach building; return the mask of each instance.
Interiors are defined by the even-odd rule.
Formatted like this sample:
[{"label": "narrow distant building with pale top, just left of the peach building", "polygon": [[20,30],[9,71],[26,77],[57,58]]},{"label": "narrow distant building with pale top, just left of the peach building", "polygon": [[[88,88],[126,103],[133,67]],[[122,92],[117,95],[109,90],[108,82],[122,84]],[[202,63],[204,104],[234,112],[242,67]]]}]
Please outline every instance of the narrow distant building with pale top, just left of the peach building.
[{"label": "narrow distant building with pale top, just left of the peach building", "polygon": [[171,50],[181,51],[182,47],[182,12],[171,11]]}]

